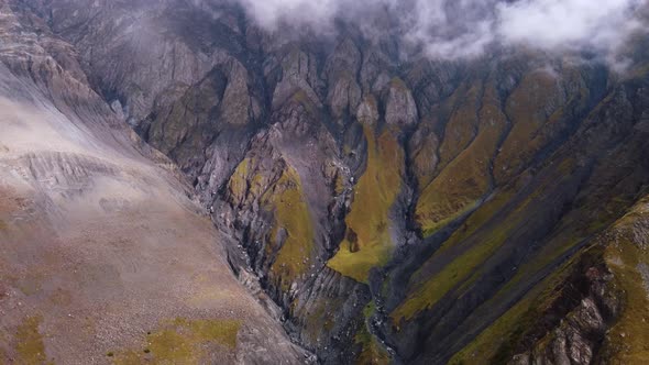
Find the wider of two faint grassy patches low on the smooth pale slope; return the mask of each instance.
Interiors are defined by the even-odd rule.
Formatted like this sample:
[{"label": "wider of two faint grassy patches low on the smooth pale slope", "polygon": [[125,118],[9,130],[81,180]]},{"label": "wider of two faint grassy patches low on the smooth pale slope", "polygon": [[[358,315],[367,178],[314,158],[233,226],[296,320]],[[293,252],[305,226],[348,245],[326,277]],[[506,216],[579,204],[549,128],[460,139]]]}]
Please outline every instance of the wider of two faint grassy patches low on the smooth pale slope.
[{"label": "wider of two faint grassy patches low on the smooth pale slope", "polygon": [[240,320],[187,320],[175,319],[163,323],[146,335],[146,343],[139,350],[121,353],[109,352],[118,365],[147,364],[201,364],[210,347],[232,351],[237,347]]}]

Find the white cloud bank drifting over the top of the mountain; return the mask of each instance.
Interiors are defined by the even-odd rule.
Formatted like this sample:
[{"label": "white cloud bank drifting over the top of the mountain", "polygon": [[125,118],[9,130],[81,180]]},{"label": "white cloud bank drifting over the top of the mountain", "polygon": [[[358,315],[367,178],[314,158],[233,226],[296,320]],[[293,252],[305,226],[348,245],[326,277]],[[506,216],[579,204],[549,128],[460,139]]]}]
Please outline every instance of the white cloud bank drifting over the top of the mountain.
[{"label": "white cloud bank drifting over the top of the mountain", "polygon": [[[544,52],[592,51],[608,57],[646,24],[647,0],[238,0],[268,30],[334,20],[367,33],[396,32],[435,58],[466,58],[493,45]],[[391,22],[374,19],[386,11]],[[387,29],[386,29],[387,27]]]}]

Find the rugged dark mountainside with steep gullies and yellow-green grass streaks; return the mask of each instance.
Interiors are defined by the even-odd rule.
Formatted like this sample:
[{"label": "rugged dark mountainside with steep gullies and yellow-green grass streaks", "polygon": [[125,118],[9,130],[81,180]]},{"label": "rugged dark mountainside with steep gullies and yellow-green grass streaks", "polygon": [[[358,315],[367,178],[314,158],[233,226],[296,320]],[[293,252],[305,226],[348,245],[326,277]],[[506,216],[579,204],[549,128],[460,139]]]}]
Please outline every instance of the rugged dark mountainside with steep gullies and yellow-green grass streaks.
[{"label": "rugged dark mountainside with steep gullies and yellow-green grass streaks", "polygon": [[320,362],[648,358],[646,35],[620,73],[404,58],[389,34],[271,34],[213,1],[6,9],[177,164],[240,280]]}]

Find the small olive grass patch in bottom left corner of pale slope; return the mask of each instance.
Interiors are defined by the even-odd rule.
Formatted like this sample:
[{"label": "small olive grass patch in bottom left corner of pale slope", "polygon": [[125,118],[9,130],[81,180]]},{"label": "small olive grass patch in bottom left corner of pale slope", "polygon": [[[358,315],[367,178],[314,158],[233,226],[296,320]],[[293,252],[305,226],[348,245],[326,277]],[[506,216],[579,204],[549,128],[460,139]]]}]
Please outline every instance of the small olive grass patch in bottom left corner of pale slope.
[{"label": "small olive grass patch in bottom left corner of pale slope", "polygon": [[18,364],[43,364],[47,360],[43,336],[38,332],[42,322],[43,318],[41,316],[33,316],[24,319],[18,327],[15,332]]}]

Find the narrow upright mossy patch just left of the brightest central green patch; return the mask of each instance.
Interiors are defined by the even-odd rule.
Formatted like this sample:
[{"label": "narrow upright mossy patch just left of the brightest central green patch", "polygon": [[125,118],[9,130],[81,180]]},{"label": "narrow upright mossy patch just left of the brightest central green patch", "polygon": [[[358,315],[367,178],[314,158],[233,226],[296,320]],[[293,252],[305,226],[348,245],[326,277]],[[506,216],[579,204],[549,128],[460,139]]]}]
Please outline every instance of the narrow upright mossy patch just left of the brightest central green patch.
[{"label": "narrow upright mossy patch just left of the brightest central green patch", "polygon": [[283,278],[282,287],[288,289],[290,283],[308,269],[308,258],[314,252],[314,223],[304,196],[299,175],[287,166],[273,189],[262,198],[266,209],[275,212],[275,223],[268,237],[268,248],[274,248],[285,230],[286,237],[271,267]]}]

